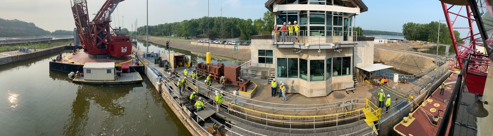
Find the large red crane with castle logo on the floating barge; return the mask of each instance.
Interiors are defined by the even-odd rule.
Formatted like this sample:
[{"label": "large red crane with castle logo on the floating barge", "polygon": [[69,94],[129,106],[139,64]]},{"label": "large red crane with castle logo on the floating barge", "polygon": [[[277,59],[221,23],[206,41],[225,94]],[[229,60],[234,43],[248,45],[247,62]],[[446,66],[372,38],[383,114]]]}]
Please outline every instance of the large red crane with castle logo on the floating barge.
[{"label": "large red crane with castle logo on the floating barge", "polygon": [[[76,22],[77,33],[82,48],[90,55],[110,54],[124,56],[132,54],[132,43],[129,36],[121,36],[117,32],[111,34],[111,14],[119,2],[124,0],[106,0],[89,22],[86,0],[74,0],[72,13]],[[123,34],[124,35],[124,34]]]}]

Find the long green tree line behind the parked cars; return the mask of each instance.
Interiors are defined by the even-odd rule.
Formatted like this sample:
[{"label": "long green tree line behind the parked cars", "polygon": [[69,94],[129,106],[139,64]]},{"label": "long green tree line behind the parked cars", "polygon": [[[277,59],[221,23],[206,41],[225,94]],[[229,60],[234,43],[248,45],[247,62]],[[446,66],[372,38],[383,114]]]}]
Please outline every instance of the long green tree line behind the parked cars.
[{"label": "long green tree line behind the parked cars", "polygon": [[[153,36],[168,36],[177,34],[180,37],[192,37],[204,34],[206,38],[225,39],[239,37],[240,40],[250,40],[251,35],[258,33],[270,34],[274,29],[274,15],[270,11],[259,19],[240,19],[231,17],[202,17],[184,20],[182,22],[165,23],[149,26],[149,34]],[[146,35],[146,26],[138,27],[136,34]]]}]

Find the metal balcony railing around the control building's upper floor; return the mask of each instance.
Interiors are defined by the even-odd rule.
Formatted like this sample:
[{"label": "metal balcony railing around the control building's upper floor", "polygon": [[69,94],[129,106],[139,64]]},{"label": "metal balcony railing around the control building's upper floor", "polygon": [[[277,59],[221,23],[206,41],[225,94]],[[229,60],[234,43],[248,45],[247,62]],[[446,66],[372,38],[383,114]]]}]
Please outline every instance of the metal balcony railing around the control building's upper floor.
[{"label": "metal balcony railing around the control building's upper floor", "polygon": [[[277,32],[277,33],[276,33]],[[357,31],[301,30],[272,31],[272,44],[330,45],[357,41]]]}]

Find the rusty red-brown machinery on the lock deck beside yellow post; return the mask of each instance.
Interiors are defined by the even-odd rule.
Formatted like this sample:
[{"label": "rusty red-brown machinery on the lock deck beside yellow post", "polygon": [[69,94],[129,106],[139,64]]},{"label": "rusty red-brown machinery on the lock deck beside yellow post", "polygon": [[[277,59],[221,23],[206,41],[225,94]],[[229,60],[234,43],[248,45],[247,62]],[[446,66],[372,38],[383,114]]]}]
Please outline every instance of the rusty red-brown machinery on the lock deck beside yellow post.
[{"label": "rusty red-brown machinery on the lock deck beside yellow post", "polygon": [[211,75],[211,79],[219,81],[221,76],[226,77],[226,83],[236,85],[240,87],[240,91],[247,91],[248,87],[252,84],[249,79],[241,79],[240,80],[240,66],[238,65],[228,65],[224,66],[223,63],[218,64],[207,64],[201,62],[197,64],[195,69],[197,74],[201,74],[202,76]]}]

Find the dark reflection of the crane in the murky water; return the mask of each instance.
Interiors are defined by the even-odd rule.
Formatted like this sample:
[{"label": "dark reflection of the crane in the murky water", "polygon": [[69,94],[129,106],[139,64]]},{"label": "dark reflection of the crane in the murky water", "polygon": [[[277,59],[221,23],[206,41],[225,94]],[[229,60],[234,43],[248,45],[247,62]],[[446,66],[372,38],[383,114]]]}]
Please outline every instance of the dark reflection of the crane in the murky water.
[{"label": "dark reflection of the crane in the murky water", "polygon": [[[121,106],[121,103],[117,103],[117,100],[129,94],[134,87],[142,86],[142,83],[131,86],[78,85],[76,99],[72,103],[72,112],[63,128],[63,135],[84,135],[84,130],[87,127],[87,122],[89,120],[89,109],[91,108],[108,111],[111,115],[105,116],[106,120],[102,122],[102,125],[106,124],[105,126],[107,126],[108,124],[111,124],[114,118],[125,115],[125,107]],[[105,127],[104,130],[106,130]]]}]

